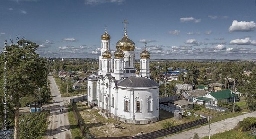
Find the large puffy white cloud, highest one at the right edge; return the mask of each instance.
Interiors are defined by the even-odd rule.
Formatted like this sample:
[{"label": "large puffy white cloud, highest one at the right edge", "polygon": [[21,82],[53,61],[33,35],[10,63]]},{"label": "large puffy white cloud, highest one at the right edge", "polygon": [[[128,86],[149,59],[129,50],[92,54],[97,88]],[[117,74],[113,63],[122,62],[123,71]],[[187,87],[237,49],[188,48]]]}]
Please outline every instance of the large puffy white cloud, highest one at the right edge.
[{"label": "large puffy white cloud, highest one at the right edge", "polygon": [[232,25],[229,27],[229,32],[234,31],[253,31],[256,27],[256,24],[254,21],[246,22],[246,21],[240,21],[234,20]]}]

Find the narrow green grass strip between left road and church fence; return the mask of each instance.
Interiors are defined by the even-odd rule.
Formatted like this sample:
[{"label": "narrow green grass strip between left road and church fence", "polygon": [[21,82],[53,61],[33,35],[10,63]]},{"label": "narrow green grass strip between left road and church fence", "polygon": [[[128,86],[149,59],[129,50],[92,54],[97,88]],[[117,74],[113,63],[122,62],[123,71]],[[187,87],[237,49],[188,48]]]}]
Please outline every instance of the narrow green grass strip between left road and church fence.
[{"label": "narrow green grass strip between left road and church fence", "polygon": [[73,113],[70,105],[68,105],[68,107],[69,107],[68,120],[69,120],[69,124],[70,124],[72,137],[73,137],[73,139],[83,139],[81,131],[77,125],[76,118],[74,117],[74,113]]}]

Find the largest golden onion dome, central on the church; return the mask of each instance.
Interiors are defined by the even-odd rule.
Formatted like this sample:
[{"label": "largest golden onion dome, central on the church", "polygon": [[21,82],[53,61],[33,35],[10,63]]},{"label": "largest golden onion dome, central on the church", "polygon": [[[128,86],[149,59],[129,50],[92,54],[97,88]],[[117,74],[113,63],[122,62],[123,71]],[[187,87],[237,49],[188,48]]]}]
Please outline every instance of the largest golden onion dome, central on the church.
[{"label": "largest golden onion dome, central on the church", "polygon": [[127,37],[126,31],[124,37],[116,43],[116,49],[120,48],[122,51],[134,51],[135,43]]}]

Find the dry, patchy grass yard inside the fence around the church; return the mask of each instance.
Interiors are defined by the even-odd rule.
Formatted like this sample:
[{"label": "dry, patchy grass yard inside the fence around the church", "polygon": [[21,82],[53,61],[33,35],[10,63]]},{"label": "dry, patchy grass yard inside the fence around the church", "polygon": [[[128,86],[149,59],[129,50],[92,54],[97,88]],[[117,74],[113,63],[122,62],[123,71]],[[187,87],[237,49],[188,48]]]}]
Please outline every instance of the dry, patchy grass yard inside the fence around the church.
[{"label": "dry, patchy grass yard inside the fence around the church", "polygon": [[[73,105],[77,111],[77,116],[82,118],[87,127],[89,128],[92,135],[96,137],[106,137],[106,136],[129,136],[136,135],[143,131],[144,133],[149,133],[152,131],[163,129],[162,123],[168,121],[174,121],[175,125],[180,125],[182,123],[187,123],[191,120],[174,120],[173,114],[160,109],[160,118],[158,122],[145,124],[145,125],[135,125],[121,123],[120,121],[114,120],[113,118],[106,119],[98,114],[99,110],[90,109],[82,103],[77,103]],[[115,128],[114,125],[120,123],[120,126],[125,129]]]}]

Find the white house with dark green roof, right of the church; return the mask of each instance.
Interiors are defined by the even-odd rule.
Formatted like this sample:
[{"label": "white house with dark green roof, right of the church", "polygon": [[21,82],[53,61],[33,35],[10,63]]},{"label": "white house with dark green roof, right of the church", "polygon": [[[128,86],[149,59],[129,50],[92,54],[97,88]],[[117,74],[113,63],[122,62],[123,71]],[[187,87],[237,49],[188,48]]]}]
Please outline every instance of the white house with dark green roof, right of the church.
[{"label": "white house with dark green roof, right of the church", "polygon": [[[235,98],[235,94],[232,90],[222,90],[218,92],[207,93],[201,97],[195,99],[197,104],[200,105],[214,105],[217,106],[219,101],[222,102],[233,102]],[[238,97],[236,97],[237,101]]]}]

